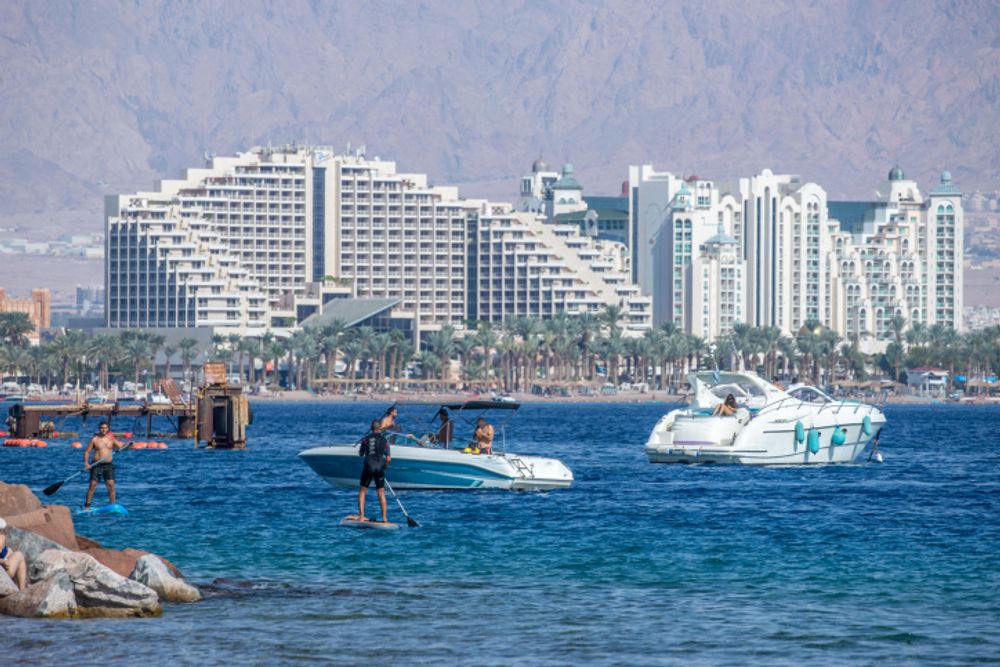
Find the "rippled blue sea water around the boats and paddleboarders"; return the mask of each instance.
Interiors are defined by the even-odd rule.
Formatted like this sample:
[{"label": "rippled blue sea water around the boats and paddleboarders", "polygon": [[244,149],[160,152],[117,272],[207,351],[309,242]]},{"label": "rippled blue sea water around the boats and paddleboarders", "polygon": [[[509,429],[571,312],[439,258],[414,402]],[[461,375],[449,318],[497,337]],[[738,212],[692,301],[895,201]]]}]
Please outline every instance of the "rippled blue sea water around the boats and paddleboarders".
[{"label": "rippled blue sea water around the boats and paddleboarders", "polygon": [[[296,454],[356,440],[384,407],[255,403],[244,451],[167,440],[169,450],[116,457],[130,516],[78,519],[77,532],[166,556],[206,600],[144,620],[0,617],[0,655],[103,666],[1000,663],[1000,407],[889,406],[882,464],[741,468],[649,464],[643,444],[665,404],[525,405],[508,448],[562,459],[571,489],[404,492],[422,527],[339,528],[356,492],[329,487]],[[404,407],[400,421],[430,430],[428,416]],[[41,495],[81,460],[67,440],[0,448],[0,479]],[[79,504],[84,491],[80,476],[52,501]],[[403,521],[396,507],[390,516]]]}]

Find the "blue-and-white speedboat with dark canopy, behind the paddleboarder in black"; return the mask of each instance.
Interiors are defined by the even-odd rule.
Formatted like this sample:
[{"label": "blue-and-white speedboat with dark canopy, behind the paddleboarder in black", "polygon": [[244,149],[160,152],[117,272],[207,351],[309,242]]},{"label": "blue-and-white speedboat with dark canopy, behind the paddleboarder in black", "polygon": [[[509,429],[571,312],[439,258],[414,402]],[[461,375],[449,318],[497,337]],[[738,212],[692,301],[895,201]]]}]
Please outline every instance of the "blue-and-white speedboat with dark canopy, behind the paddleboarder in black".
[{"label": "blue-and-white speedboat with dark canopy, behind the paddleboarder in black", "polygon": [[[567,488],[573,483],[573,473],[558,459],[506,451],[505,426],[520,404],[467,401],[435,405],[469,423],[491,410],[507,411],[509,416],[495,428],[499,437],[493,442],[492,454],[445,448],[431,444],[426,437],[390,436],[390,442],[393,437],[396,442],[390,445],[392,461],[386,479],[394,488],[543,491]],[[469,414],[474,416],[466,419]],[[299,458],[333,486],[358,487],[362,465],[358,443],[313,447],[300,452]]]}]

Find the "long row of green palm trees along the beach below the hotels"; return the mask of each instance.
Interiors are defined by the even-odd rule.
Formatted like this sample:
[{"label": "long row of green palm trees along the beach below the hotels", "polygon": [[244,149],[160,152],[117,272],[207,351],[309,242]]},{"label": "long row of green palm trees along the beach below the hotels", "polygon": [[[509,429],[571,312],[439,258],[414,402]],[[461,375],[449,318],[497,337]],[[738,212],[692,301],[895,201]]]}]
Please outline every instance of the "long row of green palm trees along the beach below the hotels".
[{"label": "long row of green palm trees along the beach below the hotels", "polygon": [[[116,381],[138,383],[142,377],[169,373],[174,355],[180,357],[183,377],[191,378],[192,364],[202,352],[227,363],[248,384],[347,391],[404,379],[439,389],[530,391],[534,385],[623,381],[666,389],[682,386],[693,368],[716,367],[814,384],[864,380],[871,373],[901,380],[906,368],[928,365],[945,368],[952,377],[1000,371],[1000,327],[959,334],[940,325],[907,326],[902,317],[893,321],[895,340],[885,353],[869,356],[861,353],[858,340],[844,340],[817,322],[807,322],[794,336],[784,336],[776,327],[737,324],[732,335],[709,342],[668,324],[641,337],[625,337],[624,313],[617,307],[600,315],[515,318],[502,327],[470,323],[477,328],[462,336],[445,326],[425,333],[420,350],[400,331],[376,333],[339,321],[300,329],[288,338],[270,332],[217,335],[204,350],[193,338],[167,346],[163,336],[141,331],[95,336],[68,331],[32,347],[25,338],[30,322],[26,329],[27,318],[9,315],[0,316],[0,372],[47,386],[93,384],[104,389]],[[167,368],[153,368],[157,352],[169,353]],[[338,361],[346,367],[340,373]]]}]

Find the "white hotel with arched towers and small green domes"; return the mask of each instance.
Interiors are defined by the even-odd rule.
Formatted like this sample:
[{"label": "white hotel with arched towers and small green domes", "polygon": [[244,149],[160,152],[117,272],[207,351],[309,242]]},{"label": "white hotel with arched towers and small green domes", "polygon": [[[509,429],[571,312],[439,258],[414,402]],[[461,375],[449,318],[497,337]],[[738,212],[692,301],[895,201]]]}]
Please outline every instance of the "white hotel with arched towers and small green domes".
[{"label": "white hotel with arched towers and small green domes", "polygon": [[897,313],[962,326],[962,204],[948,172],[925,197],[895,167],[870,202],[828,201],[769,170],[716,182],[642,165],[629,183],[633,278],[657,325],[715,338],[739,321],[792,334],[815,320],[868,349],[884,347]]}]

